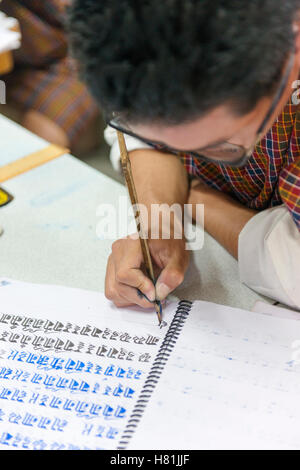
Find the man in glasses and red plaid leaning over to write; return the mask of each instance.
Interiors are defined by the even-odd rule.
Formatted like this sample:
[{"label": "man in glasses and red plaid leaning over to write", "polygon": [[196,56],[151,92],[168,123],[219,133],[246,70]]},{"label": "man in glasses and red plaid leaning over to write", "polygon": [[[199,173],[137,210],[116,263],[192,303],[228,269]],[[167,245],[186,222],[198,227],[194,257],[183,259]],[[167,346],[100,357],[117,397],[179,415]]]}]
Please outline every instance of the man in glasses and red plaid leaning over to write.
[{"label": "man in glasses and red plaid leaning over to write", "polygon": [[[82,76],[126,138],[139,202],[205,205],[205,229],[255,291],[300,308],[299,0],[75,0]],[[181,159],[178,158],[181,157]],[[194,177],[189,185],[188,175]],[[183,280],[185,241],[149,240],[160,300]],[[151,304],[139,240],[114,243],[106,295]],[[205,269],[205,266],[203,266]]]}]

